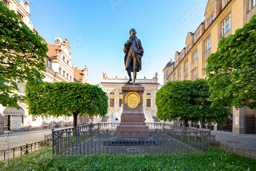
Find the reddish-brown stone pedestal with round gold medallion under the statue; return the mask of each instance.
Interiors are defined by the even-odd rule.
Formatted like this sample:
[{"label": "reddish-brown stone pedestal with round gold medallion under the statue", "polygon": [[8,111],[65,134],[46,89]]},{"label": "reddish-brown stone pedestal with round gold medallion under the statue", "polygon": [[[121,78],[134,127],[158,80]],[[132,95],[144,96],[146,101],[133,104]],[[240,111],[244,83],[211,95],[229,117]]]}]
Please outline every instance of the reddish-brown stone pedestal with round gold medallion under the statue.
[{"label": "reddish-brown stone pedestal with round gold medallion under the statue", "polygon": [[[123,92],[123,112],[121,114],[121,122],[117,126],[117,131],[149,131],[148,126],[145,123],[145,117],[143,113],[143,92],[144,87],[141,85],[125,84],[121,88]],[[120,133],[117,137],[125,137]],[[131,136],[131,138],[144,137],[148,138],[148,134],[137,135],[137,133]]]}]

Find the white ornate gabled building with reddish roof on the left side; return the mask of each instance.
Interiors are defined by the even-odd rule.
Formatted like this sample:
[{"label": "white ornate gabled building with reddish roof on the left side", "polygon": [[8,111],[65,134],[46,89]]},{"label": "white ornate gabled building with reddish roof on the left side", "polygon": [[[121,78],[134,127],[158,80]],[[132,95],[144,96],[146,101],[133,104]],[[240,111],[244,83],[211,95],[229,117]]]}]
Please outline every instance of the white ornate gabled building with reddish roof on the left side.
[{"label": "white ornate gabled building with reddish roof on the left side", "polygon": [[[32,22],[30,21],[29,2],[24,3],[23,0],[2,0],[4,5],[10,10],[14,10],[19,19],[22,20],[31,30],[33,30]],[[36,29],[34,29],[36,30]],[[46,77],[47,82],[81,82],[89,83],[87,67],[82,70],[82,78],[75,78],[74,65],[71,60],[70,46],[68,39],[63,41],[60,37],[55,37],[55,44],[47,44],[49,51],[45,59],[46,72],[42,72]],[[83,76],[84,75],[84,76]],[[25,96],[25,83],[18,84],[19,91],[16,93]],[[29,115],[26,102],[18,102],[19,110],[16,108],[6,108],[0,104],[0,134],[4,133],[4,115],[8,115],[8,130],[10,131],[31,131],[39,129],[51,128],[53,123],[56,126],[72,126],[73,117],[33,117]],[[87,116],[77,118],[78,124],[89,123],[90,119]]]}]

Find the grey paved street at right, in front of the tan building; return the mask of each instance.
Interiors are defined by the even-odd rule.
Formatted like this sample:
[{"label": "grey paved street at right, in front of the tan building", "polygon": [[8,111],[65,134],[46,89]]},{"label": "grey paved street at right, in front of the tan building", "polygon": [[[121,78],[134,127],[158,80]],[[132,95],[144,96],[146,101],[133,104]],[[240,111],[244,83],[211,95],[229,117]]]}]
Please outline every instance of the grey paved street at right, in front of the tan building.
[{"label": "grey paved street at right, in front of the tan building", "polygon": [[211,131],[212,135],[216,135],[216,141],[233,147],[256,150],[256,134],[234,134],[224,131]]}]

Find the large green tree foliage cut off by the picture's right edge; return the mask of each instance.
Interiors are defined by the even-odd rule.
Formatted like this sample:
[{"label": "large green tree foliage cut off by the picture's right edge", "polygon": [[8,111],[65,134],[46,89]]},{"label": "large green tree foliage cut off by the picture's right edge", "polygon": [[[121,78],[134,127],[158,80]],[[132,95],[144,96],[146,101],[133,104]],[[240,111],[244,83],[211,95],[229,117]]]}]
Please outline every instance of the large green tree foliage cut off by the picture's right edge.
[{"label": "large green tree foliage cut off by the picture's right edge", "polygon": [[212,105],[256,109],[256,15],[235,34],[223,36],[205,71]]}]

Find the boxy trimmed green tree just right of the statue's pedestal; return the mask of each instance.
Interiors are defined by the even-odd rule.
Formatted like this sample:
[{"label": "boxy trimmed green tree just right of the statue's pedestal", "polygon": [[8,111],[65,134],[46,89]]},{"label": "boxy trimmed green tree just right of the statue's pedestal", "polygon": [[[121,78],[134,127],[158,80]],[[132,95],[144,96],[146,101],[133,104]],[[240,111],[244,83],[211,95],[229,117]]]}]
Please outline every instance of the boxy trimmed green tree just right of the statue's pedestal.
[{"label": "boxy trimmed green tree just right of the statue's pedestal", "polygon": [[225,122],[230,113],[227,108],[211,107],[208,100],[209,86],[206,80],[169,81],[156,93],[157,117],[188,120],[201,123]]}]

